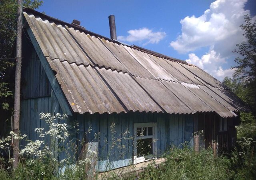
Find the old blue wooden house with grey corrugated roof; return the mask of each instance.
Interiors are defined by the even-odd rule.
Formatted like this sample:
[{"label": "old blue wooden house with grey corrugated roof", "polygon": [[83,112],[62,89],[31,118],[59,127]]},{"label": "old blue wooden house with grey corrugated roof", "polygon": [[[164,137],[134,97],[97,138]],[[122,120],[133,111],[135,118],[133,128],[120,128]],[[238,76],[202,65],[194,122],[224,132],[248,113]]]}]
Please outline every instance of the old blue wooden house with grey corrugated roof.
[{"label": "old blue wooden house with grey corrugated roof", "polygon": [[[90,125],[92,134],[100,132],[98,142],[86,137],[100,171],[108,162],[114,169],[161,157],[185,141],[198,146],[194,132],[201,130],[205,148],[232,147],[244,104],[197,66],[27,8],[23,28],[20,130],[30,139],[45,126],[40,112],[66,113],[79,122],[78,138]],[[133,137],[120,142],[127,149],[122,157],[103,148],[113,122],[117,138],[126,130]]]}]

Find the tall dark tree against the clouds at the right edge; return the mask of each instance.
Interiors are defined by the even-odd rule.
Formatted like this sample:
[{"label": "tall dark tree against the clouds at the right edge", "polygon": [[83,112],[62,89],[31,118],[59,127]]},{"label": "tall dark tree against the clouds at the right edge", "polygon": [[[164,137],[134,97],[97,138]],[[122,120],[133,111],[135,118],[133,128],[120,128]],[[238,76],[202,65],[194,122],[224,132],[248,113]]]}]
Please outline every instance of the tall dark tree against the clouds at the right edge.
[{"label": "tall dark tree against the clouds at the right edge", "polygon": [[250,96],[247,103],[256,115],[256,22],[248,14],[244,16],[244,20],[245,24],[240,27],[244,30],[246,41],[236,44],[237,49],[233,52],[240,54],[240,57],[235,59],[237,65],[232,68],[235,70],[234,78],[243,82],[247,88]]}]

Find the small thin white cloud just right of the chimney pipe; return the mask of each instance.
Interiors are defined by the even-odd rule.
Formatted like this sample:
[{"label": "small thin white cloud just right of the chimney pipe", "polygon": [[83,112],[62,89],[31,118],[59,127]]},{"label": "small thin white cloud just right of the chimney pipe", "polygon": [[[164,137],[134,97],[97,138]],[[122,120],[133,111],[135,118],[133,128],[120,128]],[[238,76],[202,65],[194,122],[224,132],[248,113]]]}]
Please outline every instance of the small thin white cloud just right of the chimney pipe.
[{"label": "small thin white cloud just right of the chimney pipe", "polygon": [[[165,36],[165,32],[152,32],[152,30],[148,28],[140,28],[128,31],[128,36],[118,36],[117,39],[120,41],[126,42],[144,42],[143,45],[146,44],[155,44],[162,40]],[[146,41],[146,42],[145,42]]]}]

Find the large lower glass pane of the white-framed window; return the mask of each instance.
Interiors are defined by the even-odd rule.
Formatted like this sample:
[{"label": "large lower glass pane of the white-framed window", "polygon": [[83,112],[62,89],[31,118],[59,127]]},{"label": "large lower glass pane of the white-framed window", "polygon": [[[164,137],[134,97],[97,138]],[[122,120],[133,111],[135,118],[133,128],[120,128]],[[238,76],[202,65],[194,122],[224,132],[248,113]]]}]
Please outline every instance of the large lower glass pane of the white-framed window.
[{"label": "large lower glass pane of the white-framed window", "polygon": [[153,138],[137,140],[137,157],[153,154]]}]

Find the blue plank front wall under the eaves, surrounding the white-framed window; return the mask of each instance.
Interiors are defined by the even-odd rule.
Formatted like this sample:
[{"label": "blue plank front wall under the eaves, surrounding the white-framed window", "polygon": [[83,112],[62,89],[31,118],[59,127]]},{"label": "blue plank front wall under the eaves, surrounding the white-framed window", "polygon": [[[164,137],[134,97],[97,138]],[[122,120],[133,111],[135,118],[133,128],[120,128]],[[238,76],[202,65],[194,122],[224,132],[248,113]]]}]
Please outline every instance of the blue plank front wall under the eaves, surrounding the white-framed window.
[{"label": "blue plank front wall under the eaves, surrounding the white-framed window", "polygon": [[[157,123],[157,149],[160,157],[170,146],[180,146],[185,141],[193,146],[194,115],[170,115],[145,112],[129,112],[127,114],[84,114],[77,116],[79,122],[79,139],[86,138],[92,150],[98,151],[98,170],[128,166],[133,162],[133,139],[121,139],[128,129],[134,136],[134,123]],[[111,130],[115,124],[114,132]],[[89,126],[92,130],[88,133]],[[85,132],[87,137],[85,136]],[[100,136],[96,137],[96,134]],[[113,143],[114,139],[114,143]],[[123,148],[121,148],[123,147]]]}]

